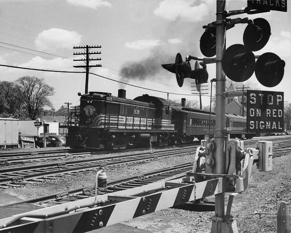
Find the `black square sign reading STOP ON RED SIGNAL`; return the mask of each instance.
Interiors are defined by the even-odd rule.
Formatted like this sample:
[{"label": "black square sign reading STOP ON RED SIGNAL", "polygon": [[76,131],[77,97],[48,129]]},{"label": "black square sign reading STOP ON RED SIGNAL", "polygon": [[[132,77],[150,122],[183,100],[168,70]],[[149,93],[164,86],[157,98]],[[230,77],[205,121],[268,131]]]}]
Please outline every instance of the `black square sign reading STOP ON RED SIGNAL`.
[{"label": "black square sign reading STOP ON RED SIGNAL", "polygon": [[246,132],[282,132],[284,92],[247,90]]}]

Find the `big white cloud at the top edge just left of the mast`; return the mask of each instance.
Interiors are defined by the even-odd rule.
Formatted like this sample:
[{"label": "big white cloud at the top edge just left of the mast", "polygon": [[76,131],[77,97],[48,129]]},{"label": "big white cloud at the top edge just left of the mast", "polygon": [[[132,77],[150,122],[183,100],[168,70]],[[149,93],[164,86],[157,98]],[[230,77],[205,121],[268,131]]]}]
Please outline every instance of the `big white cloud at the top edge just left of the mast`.
[{"label": "big white cloud at the top edge just left of the mast", "polygon": [[215,9],[215,4],[213,0],[164,0],[154,13],[169,21],[180,17],[183,21],[198,22],[210,14],[210,9]]}]

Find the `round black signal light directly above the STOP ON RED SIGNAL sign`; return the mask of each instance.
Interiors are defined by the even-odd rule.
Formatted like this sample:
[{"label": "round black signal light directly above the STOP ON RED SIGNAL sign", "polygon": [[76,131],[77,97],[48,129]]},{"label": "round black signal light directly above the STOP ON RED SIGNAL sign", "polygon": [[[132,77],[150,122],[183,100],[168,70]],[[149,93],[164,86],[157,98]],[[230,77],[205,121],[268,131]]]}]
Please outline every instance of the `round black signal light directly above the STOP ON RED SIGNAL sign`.
[{"label": "round black signal light directly above the STOP ON RED SIGNAL sign", "polygon": [[265,87],[275,87],[284,76],[285,61],[275,53],[263,53],[255,63],[255,76]]}]

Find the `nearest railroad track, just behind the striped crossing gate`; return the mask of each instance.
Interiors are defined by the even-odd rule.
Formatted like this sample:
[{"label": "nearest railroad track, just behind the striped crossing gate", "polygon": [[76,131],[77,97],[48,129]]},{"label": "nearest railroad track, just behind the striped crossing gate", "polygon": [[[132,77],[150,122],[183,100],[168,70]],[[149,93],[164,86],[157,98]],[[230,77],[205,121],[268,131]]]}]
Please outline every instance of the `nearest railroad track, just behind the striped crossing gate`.
[{"label": "nearest railroad track, just behind the striped crossing gate", "polygon": [[[107,182],[106,188],[98,188],[97,195],[105,193],[112,193],[124,189],[131,189],[134,187],[143,186],[154,182],[162,182],[167,180],[178,179],[184,177],[187,172],[191,172],[193,167],[193,161],[184,164],[178,164],[167,168],[148,171],[145,173],[139,173],[137,175],[128,176],[125,178],[112,180]],[[8,205],[2,205],[0,208],[19,205],[22,203],[38,203],[44,206],[58,205],[66,202],[80,200],[88,197],[95,196],[95,186],[90,185],[78,189],[72,189],[69,191],[54,193],[47,196],[33,198],[29,200],[23,200]]]}]

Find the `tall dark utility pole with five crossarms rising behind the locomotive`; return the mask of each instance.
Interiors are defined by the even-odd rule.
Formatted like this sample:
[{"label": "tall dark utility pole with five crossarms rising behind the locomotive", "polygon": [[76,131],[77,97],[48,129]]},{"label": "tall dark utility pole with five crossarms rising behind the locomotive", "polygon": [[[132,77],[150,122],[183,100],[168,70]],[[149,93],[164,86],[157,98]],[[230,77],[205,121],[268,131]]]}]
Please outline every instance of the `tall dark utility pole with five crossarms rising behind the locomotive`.
[{"label": "tall dark utility pole with five crossarms rising behind the locomotive", "polygon": [[88,80],[89,80],[89,70],[91,69],[91,67],[102,67],[102,65],[100,65],[100,64],[96,64],[96,65],[89,65],[89,62],[90,61],[99,61],[99,60],[101,60],[101,58],[97,58],[97,59],[93,59],[93,58],[89,58],[89,56],[91,55],[91,54],[101,54],[101,52],[89,52],[90,51],[90,49],[95,49],[95,48],[101,48],[101,46],[99,46],[99,45],[97,45],[97,46],[88,46],[88,45],[86,45],[86,46],[74,46],[73,47],[73,49],[84,49],[84,51],[86,51],[86,52],[84,52],[84,53],[73,53],[73,55],[84,55],[84,57],[86,58],[86,59],[76,59],[76,60],[73,60],[73,61],[83,61],[86,65],[84,65],[84,66],[73,66],[73,67],[75,67],[75,68],[85,68],[85,70],[86,70],[86,83],[85,83],[85,94],[86,93],[88,93]]}]

